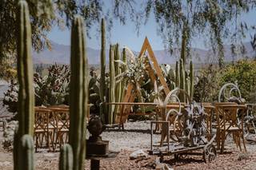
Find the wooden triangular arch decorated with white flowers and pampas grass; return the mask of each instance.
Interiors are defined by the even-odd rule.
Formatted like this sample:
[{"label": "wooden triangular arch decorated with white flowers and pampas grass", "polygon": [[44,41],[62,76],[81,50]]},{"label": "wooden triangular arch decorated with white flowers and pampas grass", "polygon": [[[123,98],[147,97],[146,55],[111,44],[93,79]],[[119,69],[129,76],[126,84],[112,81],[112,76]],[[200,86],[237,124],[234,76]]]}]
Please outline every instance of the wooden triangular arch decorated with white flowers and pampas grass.
[{"label": "wooden triangular arch decorated with white flowers and pampas grass", "polygon": [[[164,92],[167,95],[168,93],[170,93],[170,89],[168,88],[166,80],[162,75],[162,69],[158,65],[158,61],[157,61],[156,57],[154,56],[154,52],[153,52],[150,42],[147,38],[145,38],[145,40],[143,42],[142,49],[141,49],[138,57],[143,57],[143,55],[144,55],[144,53],[146,53],[146,51],[149,54],[149,57],[147,57],[146,60],[150,60],[152,62],[153,67],[154,67],[154,69],[157,73],[157,76],[159,78],[160,84],[163,86]],[[150,62],[148,62],[147,70],[149,72],[150,79],[153,83],[154,83],[154,81],[157,80],[157,78],[154,76],[154,69],[152,69],[152,65],[150,65]],[[137,89],[137,87],[135,87],[135,85],[131,82],[128,83],[127,89],[126,89],[126,94],[122,100],[122,103],[124,105],[121,105],[118,115],[115,117],[115,123],[123,125],[123,123],[126,122],[128,116],[130,114],[130,109],[132,107],[132,105],[129,105],[128,103],[134,102],[135,97],[137,96],[137,93],[138,93],[138,91],[134,90],[134,89]],[[125,105],[126,103],[127,103],[127,105]]]}]

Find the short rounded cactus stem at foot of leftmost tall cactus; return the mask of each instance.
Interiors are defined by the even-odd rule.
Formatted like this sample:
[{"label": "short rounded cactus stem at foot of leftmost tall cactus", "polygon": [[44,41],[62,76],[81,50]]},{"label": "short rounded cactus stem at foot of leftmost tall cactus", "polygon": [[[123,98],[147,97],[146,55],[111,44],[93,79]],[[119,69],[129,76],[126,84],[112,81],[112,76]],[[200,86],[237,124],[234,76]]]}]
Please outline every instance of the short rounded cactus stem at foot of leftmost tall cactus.
[{"label": "short rounded cactus stem at foot of leftmost tall cactus", "polygon": [[34,141],[32,136],[26,134],[23,135],[20,142],[21,149],[19,150],[20,156],[23,157],[19,160],[19,166],[22,169],[33,170],[34,169]]}]

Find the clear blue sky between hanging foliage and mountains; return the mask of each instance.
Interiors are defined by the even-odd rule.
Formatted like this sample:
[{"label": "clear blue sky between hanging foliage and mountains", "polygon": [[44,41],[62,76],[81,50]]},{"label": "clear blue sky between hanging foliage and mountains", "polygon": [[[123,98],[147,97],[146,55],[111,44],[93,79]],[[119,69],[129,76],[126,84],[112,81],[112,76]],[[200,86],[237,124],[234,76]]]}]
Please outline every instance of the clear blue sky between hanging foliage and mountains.
[{"label": "clear blue sky between hanging foliage and mountains", "polygon": [[[256,10],[251,11],[249,14],[242,15],[242,21],[247,22],[249,25],[256,25]],[[90,30],[91,38],[87,38],[87,46],[100,49],[100,35],[98,35],[97,27],[94,26]],[[140,34],[138,35],[135,30],[134,23],[127,21],[125,26],[122,26],[119,22],[114,21],[114,26],[110,32],[110,38],[107,40],[107,45],[110,43],[119,43],[121,46],[126,45],[135,51],[139,51],[142,47],[144,38],[149,38],[150,44],[154,50],[164,49],[162,44],[162,38],[157,33],[157,25],[154,22],[154,17],[151,14],[147,24],[142,25],[140,28]],[[203,36],[202,36],[203,37]],[[192,39],[192,46],[206,49],[204,39],[197,37]],[[49,34],[50,40],[57,42],[58,44],[70,45],[70,30],[60,30],[58,27],[54,27]],[[250,38],[246,38],[244,42],[249,42]],[[226,42],[228,43],[228,42]]]}]

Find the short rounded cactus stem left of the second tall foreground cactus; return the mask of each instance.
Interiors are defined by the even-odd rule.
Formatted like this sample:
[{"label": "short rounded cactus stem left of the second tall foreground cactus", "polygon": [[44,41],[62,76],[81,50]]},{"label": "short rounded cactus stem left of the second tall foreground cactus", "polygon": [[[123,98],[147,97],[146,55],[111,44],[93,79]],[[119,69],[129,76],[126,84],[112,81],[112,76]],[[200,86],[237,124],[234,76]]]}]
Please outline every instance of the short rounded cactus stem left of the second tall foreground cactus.
[{"label": "short rounded cactus stem left of the second tall foreground cactus", "polygon": [[73,169],[73,151],[70,144],[64,144],[61,148],[59,170]]}]

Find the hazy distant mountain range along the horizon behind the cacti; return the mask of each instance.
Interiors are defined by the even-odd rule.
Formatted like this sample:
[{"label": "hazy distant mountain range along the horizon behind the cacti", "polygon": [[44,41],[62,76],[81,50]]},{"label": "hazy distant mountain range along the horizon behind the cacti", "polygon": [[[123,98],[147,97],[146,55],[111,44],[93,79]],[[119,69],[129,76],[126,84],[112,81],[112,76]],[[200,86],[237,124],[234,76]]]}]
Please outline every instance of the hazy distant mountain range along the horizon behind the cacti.
[{"label": "hazy distant mountain range along the horizon behind the cacti", "polygon": [[[245,44],[246,53],[244,55],[238,55],[236,57],[232,56],[230,51],[230,45],[225,45],[225,61],[235,61],[241,59],[242,57],[253,58],[256,55],[256,52],[252,49],[250,42]],[[90,47],[86,48],[87,56],[90,65],[100,64],[100,49],[92,49]],[[154,50],[154,49],[153,49]],[[138,54],[138,52],[134,52]],[[214,54],[211,50],[192,48],[190,53],[194,63],[212,63],[213,61],[218,61],[217,57],[213,57]],[[55,42],[52,42],[52,49],[44,49],[40,53],[33,52],[34,64],[69,64],[70,63],[70,45],[60,45]],[[158,63],[174,64],[179,56],[179,50],[174,49],[174,53],[170,55],[166,50],[154,50],[154,55],[158,59]],[[176,56],[176,57],[175,57]],[[106,61],[108,61],[108,49],[106,52]]]}]

